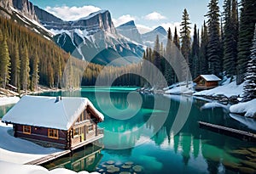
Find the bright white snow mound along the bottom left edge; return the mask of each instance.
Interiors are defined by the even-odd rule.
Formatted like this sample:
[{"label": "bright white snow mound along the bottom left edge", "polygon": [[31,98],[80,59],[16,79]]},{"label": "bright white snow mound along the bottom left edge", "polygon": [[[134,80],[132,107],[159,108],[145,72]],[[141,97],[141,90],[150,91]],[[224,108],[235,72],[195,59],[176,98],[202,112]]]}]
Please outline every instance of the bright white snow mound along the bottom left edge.
[{"label": "bright white snow mound along the bottom left edge", "polygon": [[[19,174],[88,174],[87,171],[70,171],[63,168],[54,169],[52,171],[48,171],[43,166],[33,166],[33,165],[18,165],[10,162],[5,162],[0,160],[0,171],[1,174],[9,174],[9,173],[19,173]],[[98,172],[92,172],[94,174]]]}]

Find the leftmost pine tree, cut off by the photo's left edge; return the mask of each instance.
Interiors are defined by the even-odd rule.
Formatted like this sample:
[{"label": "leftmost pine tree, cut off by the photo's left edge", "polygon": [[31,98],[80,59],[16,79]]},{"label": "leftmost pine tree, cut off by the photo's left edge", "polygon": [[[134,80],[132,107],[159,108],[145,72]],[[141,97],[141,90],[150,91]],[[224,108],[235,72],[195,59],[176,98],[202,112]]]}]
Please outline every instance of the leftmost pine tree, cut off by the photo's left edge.
[{"label": "leftmost pine tree, cut off by the photo's left edge", "polygon": [[9,82],[10,57],[7,38],[0,30],[0,86],[5,88]]}]

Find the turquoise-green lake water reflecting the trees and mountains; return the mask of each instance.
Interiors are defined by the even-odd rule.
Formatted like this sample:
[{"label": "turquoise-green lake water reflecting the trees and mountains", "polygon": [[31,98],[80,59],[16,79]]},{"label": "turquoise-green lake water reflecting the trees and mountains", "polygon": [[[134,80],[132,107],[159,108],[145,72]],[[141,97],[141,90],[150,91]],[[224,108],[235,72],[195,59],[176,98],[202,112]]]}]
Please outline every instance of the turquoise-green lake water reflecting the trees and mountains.
[{"label": "turquoise-green lake water reflecting the trees and mountains", "polygon": [[[83,96],[105,115],[99,125],[105,130],[104,149],[90,145],[76,151],[73,157],[65,156],[45,166],[101,173],[255,172],[255,143],[199,128],[197,121],[207,121],[255,132],[230,117],[225,109],[202,109],[206,102],[191,97],[148,95],[133,90],[84,87],[79,92],[41,94]],[[3,112],[2,107],[0,114]]]}]

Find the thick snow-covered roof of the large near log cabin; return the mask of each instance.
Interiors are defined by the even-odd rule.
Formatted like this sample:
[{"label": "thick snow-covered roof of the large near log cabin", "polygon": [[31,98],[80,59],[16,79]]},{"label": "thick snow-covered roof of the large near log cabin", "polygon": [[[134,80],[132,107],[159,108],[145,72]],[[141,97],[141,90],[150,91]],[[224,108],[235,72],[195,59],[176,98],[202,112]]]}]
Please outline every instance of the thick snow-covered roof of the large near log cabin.
[{"label": "thick snow-covered roof of the large near log cabin", "polygon": [[85,107],[89,107],[92,115],[100,121],[104,120],[102,113],[91,104],[88,98],[62,97],[56,102],[55,97],[26,95],[3,116],[2,121],[68,130]]}]

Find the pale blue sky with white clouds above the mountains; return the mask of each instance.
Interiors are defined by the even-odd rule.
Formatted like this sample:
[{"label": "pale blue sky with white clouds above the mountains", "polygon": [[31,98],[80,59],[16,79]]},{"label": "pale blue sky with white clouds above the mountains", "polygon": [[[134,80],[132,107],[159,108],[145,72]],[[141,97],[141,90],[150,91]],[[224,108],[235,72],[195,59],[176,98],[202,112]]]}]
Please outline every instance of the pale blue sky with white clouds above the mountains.
[{"label": "pale blue sky with white clouds above the mountains", "polygon": [[[111,12],[114,25],[118,26],[129,20],[135,23],[141,33],[162,25],[164,28],[180,24],[183,9],[187,8],[190,22],[201,27],[207,14],[210,0],[30,0],[63,20],[78,20],[99,9]],[[223,0],[219,1],[223,5]],[[178,27],[179,28],[179,27]]]}]

